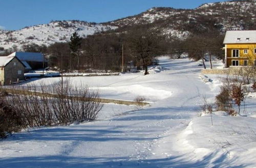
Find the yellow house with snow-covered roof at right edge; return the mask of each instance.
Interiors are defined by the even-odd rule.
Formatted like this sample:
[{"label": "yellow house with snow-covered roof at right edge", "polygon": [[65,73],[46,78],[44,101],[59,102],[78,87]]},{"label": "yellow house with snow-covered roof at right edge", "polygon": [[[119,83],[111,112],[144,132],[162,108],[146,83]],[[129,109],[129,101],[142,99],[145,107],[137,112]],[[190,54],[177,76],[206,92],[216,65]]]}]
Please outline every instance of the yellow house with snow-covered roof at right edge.
[{"label": "yellow house with snow-covered roof at right edge", "polygon": [[225,67],[256,66],[256,31],[227,31]]}]

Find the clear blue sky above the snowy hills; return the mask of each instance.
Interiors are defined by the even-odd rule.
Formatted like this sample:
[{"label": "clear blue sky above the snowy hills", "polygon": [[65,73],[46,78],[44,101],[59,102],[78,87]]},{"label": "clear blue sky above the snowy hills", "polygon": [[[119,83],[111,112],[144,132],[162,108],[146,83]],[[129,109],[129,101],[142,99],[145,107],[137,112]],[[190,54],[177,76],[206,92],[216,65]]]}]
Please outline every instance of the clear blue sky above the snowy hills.
[{"label": "clear blue sky above the snowy hills", "polygon": [[51,20],[105,22],[152,7],[193,9],[222,0],[0,0],[0,29],[18,30]]}]

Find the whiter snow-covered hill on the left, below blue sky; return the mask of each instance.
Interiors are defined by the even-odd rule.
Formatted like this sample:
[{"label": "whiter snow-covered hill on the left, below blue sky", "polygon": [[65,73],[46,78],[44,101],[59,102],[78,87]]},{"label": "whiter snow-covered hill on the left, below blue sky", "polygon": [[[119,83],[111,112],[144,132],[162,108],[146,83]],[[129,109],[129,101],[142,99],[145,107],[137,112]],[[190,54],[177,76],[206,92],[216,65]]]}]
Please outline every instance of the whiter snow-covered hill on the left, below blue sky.
[{"label": "whiter snow-covered hill on the left, below blue sky", "polygon": [[55,42],[68,42],[76,31],[79,36],[86,37],[94,33],[116,29],[113,25],[88,23],[86,21],[52,21],[49,24],[39,24],[18,31],[0,31],[0,46],[8,49],[16,45],[35,43],[49,45]]}]

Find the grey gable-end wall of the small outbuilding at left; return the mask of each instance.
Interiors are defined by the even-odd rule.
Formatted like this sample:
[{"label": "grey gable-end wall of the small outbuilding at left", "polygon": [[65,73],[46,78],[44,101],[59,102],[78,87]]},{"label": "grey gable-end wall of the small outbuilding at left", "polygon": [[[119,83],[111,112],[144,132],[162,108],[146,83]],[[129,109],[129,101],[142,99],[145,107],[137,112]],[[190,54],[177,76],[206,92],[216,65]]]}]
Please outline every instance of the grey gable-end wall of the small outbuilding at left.
[{"label": "grey gable-end wall of the small outbuilding at left", "polygon": [[[15,64],[15,65],[14,65]],[[18,71],[21,74],[18,74]],[[17,82],[17,79],[24,80],[25,67],[16,58],[9,62],[4,68],[5,80],[4,85],[9,85],[11,82]]]}]

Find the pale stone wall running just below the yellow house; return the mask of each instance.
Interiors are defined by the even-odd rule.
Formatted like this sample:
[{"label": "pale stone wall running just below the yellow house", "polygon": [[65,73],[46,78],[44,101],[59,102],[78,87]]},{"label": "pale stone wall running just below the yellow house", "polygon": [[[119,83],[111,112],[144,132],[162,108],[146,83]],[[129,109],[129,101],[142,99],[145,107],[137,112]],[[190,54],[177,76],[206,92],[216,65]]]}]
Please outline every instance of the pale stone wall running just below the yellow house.
[{"label": "pale stone wall running just below the yellow house", "polygon": [[229,75],[256,75],[256,67],[254,66],[232,66],[225,69],[202,69],[202,74],[229,74]]}]

